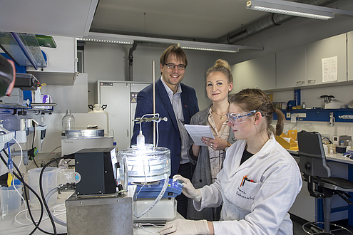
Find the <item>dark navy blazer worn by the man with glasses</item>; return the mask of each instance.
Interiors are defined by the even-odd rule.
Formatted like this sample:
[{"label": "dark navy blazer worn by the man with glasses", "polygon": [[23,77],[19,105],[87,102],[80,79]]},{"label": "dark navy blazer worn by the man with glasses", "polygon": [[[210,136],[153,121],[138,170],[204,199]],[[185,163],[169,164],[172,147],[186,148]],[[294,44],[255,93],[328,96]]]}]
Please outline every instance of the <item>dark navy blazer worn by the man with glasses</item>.
[{"label": "dark navy blazer worn by the man with glasses", "polygon": [[[172,104],[170,103],[167,91],[160,79],[155,82],[155,113],[159,113],[160,117],[167,117],[168,121],[164,122],[162,120],[158,123],[158,147],[167,147],[170,150],[170,177],[173,177],[174,174],[178,174],[179,170],[181,137]],[[184,120],[185,124],[189,124],[190,118],[193,117],[195,113],[198,113],[198,98],[196,98],[196,93],[193,88],[190,88],[183,83],[180,83],[180,85],[182,90],[181,103],[183,105]],[[152,84],[148,85],[138,93],[135,117],[142,117],[145,114],[151,113],[153,113]],[[140,125],[138,122],[135,122],[131,145],[136,144],[136,137],[139,131]],[[145,136],[145,143],[153,144],[153,122],[143,122],[142,132]]]}]

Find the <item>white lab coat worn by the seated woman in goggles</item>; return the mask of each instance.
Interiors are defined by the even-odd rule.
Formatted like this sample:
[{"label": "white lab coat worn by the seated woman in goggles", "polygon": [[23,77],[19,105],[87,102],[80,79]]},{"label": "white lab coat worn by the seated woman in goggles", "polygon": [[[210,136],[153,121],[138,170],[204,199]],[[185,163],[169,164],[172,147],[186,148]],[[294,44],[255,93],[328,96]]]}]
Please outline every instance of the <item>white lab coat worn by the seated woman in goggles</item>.
[{"label": "white lab coat worn by the seated woman in goggles", "polygon": [[240,166],[245,145],[238,140],[227,150],[223,169],[201,189],[195,209],[223,205],[221,221],[213,222],[215,234],[292,234],[288,210],[302,187],[297,162],[272,135]]}]

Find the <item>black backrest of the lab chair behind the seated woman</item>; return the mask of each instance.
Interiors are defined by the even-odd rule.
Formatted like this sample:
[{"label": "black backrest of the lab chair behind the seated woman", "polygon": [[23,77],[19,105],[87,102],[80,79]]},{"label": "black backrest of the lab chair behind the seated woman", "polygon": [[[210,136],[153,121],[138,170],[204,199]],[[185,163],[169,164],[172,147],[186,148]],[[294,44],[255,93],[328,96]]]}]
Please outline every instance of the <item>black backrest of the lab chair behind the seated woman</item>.
[{"label": "black backrest of the lab chair behind the seated woman", "polygon": [[312,177],[330,177],[331,169],[326,164],[324,147],[319,132],[302,130],[297,135],[300,171]]}]

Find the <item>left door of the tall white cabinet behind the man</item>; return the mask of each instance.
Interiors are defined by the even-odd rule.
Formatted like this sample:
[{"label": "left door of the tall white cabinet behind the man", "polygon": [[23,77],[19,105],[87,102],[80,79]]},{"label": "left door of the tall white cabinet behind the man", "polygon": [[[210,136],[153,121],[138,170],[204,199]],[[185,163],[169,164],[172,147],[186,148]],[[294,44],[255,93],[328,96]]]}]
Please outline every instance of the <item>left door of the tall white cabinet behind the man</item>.
[{"label": "left door of the tall white cabinet behind the man", "polygon": [[118,150],[130,147],[130,84],[101,82],[101,105],[107,105],[109,129]]}]

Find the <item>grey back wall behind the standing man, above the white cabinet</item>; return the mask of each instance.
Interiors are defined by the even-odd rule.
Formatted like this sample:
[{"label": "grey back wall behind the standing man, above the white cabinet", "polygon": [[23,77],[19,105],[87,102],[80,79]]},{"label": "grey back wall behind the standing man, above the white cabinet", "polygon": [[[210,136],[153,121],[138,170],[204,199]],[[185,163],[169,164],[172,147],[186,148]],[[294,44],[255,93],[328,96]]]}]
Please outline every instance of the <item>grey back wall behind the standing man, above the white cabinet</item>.
[{"label": "grey back wall behind the standing man, above the white cabinet", "polygon": [[[128,51],[131,46],[91,43],[84,48],[85,73],[88,73],[88,103],[96,99],[97,80],[127,80]],[[133,51],[133,80],[151,82],[153,75],[152,61],[155,61],[156,79],[160,76],[159,60],[165,48],[140,46]],[[218,58],[224,58],[226,53],[205,51],[188,51],[188,68],[185,71],[183,83],[195,88],[198,95],[199,108],[206,108],[210,102],[205,97],[204,74],[213,66]]]}]

